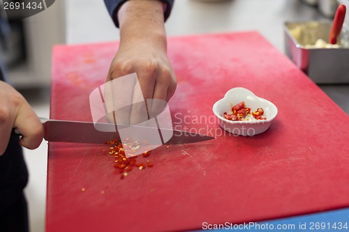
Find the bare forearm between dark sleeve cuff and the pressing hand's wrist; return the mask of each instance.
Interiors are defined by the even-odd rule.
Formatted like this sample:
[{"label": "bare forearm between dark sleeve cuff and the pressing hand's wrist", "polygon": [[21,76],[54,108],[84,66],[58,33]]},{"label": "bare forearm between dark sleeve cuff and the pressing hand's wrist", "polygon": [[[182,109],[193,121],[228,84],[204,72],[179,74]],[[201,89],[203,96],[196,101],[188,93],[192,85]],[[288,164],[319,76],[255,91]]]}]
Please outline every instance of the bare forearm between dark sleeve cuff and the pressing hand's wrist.
[{"label": "bare forearm between dark sleeve cuff and the pressing hand's wrist", "polygon": [[156,0],[126,1],[118,11],[121,46],[142,42],[166,50],[163,3]]}]

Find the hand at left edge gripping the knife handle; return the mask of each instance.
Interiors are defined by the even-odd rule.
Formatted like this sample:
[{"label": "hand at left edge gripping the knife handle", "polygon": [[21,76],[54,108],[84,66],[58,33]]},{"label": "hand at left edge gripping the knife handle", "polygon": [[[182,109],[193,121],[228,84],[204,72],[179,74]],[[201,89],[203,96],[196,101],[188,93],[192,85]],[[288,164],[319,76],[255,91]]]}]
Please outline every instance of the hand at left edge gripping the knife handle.
[{"label": "hand at left edge gripping the knife handle", "polygon": [[27,100],[12,86],[0,81],[0,155],[5,152],[13,127],[22,138],[20,145],[34,149],[43,140],[43,125]]}]

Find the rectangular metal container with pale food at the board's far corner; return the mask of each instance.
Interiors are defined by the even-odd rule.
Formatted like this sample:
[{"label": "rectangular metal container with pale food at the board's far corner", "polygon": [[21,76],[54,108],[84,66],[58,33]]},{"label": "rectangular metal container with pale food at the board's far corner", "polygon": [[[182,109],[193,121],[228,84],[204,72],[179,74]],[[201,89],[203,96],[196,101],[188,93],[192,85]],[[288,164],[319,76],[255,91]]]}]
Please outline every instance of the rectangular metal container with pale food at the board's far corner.
[{"label": "rectangular metal container with pale food at the board's far corner", "polygon": [[[285,52],[316,84],[349,83],[349,49],[309,48],[318,39],[329,41],[332,22],[285,22]],[[346,44],[339,38],[339,46]]]}]

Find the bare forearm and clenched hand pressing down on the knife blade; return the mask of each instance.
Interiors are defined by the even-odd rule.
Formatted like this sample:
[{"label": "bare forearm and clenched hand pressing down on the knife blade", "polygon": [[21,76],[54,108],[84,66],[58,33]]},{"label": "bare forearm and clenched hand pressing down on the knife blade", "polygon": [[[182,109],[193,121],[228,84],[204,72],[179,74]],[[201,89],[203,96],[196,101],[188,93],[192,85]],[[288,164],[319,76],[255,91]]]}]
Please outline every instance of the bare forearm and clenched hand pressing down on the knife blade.
[{"label": "bare forearm and clenched hand pressing down on the knife blade", "polygon": [[[163,110],[177,87],[167,56],[163,3],[154,0],[126,1],[119,9],[118,19],[120,45],[110,65],[107,82],[135,72],[141,93],[137,93],[136,88],[127,90],[133,93],[130,103],[140,102],[142,97],[144,100],[156,99],[147,104],[148,113],[154,116]],[[118,123],[132,125],[147,118],[142,114],[142,104],[124,110],[122,113],[128,114],[128,117],[117,117]]]}]

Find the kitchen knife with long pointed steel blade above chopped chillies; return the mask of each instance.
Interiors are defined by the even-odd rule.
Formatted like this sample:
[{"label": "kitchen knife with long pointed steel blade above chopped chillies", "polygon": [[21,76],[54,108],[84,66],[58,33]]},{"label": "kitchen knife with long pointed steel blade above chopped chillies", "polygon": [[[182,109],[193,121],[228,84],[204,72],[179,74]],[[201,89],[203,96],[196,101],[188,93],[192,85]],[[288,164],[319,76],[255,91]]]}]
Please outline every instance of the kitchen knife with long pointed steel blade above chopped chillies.
[{"label": "kitchen knife with long pointed steel blade above chopped chillies", "polygon": [[[158,127],[146,127],[138,125],[115,125],[111,123],[90,123],[80,121],[63,121],[63,120],[50,120],[40,118],[43,122],[45,130],[44,139],[46,141],[57,141],[57,142],[69,142],[69,143],[80,143],[80,144],[105,144],[105,141],[111,141],[114,139],[120,139],[119,131],[121,129],[132,127],[133,130],[137,131],[137,134],[152,134],[162,133],[172,134],[172,137],[164,145],[170,144],[191,144],[200,141],[208,141],[214,139],[203,134],[185,132],[181,130],[169,130],[169,129],[158,129]],[[115,132],[103,132],[96,130],[98,128],[108,129],[111,128]],[[20,134],[16,129],[13,130],[15,134]],[[136,134],[135,134],[136,135]],[[130,138],[132,139],[132,138]]]}]

